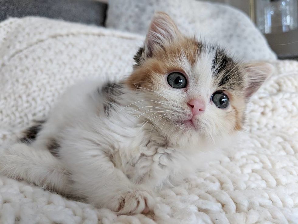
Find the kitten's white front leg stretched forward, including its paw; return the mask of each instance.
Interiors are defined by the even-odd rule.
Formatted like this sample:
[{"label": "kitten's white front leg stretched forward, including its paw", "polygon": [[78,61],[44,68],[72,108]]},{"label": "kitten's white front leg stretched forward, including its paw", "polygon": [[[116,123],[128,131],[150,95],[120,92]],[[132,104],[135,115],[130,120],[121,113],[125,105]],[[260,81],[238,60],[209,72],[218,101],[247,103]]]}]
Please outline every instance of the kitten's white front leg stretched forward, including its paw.
[{"label": "kitten's white front leg stretched forward, including its paw", "polygon": [[67,166],[71,167],[73,187],[98,207],[112,209],[118,214],[147,213],[153,207],[150,190],[131,183],[98,148],[72,151]]}]

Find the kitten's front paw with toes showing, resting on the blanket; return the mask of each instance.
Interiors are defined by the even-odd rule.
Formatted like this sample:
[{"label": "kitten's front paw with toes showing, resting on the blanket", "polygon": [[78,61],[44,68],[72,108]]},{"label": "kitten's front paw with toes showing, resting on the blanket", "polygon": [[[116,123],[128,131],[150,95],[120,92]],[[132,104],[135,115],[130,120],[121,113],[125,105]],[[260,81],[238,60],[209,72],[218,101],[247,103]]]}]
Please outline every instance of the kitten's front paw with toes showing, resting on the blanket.
[{"label": "kitten's front paw with toes showing, resting on the blanket", "polygon": [[154,198],[146,190],[133,190],[123,194],[118,214],[146,214],[152,210]]}]

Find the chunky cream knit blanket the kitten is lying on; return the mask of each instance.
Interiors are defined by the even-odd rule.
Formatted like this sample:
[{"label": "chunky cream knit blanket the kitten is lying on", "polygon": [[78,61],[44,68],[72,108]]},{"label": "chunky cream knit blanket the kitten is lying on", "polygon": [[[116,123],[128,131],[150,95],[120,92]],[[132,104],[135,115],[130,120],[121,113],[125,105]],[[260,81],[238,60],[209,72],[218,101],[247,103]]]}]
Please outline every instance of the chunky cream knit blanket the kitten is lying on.
[{"label": "chunky cream knit blanket the kitten is lying on", "polygon": [[[0,150],[47,116],[70,84],[129,74],[143,38],[36,17],[0,23]],[[0,177],[0,223],[298,223],[298,62],[272,64],[234,152],[159,192],[149,215],[117,216]]]}]

